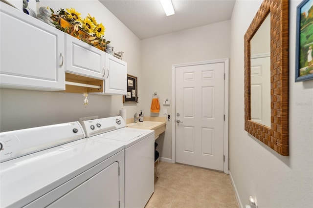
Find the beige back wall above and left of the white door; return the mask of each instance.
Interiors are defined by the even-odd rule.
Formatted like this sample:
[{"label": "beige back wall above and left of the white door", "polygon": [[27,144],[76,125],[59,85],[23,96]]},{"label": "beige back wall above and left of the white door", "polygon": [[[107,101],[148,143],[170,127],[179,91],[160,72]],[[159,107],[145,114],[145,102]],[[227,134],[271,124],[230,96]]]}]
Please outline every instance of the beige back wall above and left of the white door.
[{"label": "beige back wall above and left of the white door", "polygon": [[[146,116],[162,116],[163,109],[171,119],[172,112],[172,65],[229,57],[230,21],[209,24],[194,29],[158,36],[142,41],[142,93],[139,96]],[[171,99],[171,105],[160,103],[160,113],[150,113],[152,94],[157,92],[160,102]],[[166,125],[165,134],[156,140],[162,160],[172,158],[172,120]]]}]

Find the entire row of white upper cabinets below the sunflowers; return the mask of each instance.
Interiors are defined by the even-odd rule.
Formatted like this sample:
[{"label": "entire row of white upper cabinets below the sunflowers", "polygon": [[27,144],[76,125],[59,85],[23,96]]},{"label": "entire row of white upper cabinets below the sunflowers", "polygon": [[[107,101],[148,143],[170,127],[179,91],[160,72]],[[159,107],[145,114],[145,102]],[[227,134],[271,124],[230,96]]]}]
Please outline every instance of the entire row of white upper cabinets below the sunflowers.
[{"label": "entire row of white upper cabinets below the sunflowers", "polygon": [[126,95],[127,63],[0,1],[0,87]]}]

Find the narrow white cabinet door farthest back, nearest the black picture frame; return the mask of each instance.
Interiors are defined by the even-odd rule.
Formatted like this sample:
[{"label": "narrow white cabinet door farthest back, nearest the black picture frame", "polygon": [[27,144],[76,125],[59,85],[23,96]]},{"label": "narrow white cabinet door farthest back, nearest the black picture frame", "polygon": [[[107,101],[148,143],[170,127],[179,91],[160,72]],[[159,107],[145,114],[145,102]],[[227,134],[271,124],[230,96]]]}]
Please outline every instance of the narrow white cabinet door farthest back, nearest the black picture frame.
[{"label": "narrow white cabinet door farthest back, nearest the black picture frame", "polygon": [[126,95],[127,63],[106,53],[105,94]]}]

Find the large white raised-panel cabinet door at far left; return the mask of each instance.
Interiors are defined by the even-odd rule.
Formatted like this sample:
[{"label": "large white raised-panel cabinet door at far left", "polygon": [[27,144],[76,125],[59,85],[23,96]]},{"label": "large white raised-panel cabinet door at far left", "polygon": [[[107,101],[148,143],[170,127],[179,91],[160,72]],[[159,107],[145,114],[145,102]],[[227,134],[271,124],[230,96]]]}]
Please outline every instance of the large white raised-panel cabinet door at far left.
[{"label": "large white raised-panel cabinet door at far left", "polygon": [[64,90],[64,32],[0,3],[0,86]]}]

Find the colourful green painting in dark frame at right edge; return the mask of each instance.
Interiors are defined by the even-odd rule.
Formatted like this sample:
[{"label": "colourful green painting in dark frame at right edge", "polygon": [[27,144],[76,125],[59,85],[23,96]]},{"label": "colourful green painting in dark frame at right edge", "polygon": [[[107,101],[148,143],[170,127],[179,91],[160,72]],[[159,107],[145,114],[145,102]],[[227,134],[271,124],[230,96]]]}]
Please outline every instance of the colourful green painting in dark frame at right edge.
[{"label": "colourful green painting in dark frame at right edge", "polygon": [[297,6],[295,82],[313,79],[313,0]]}]

